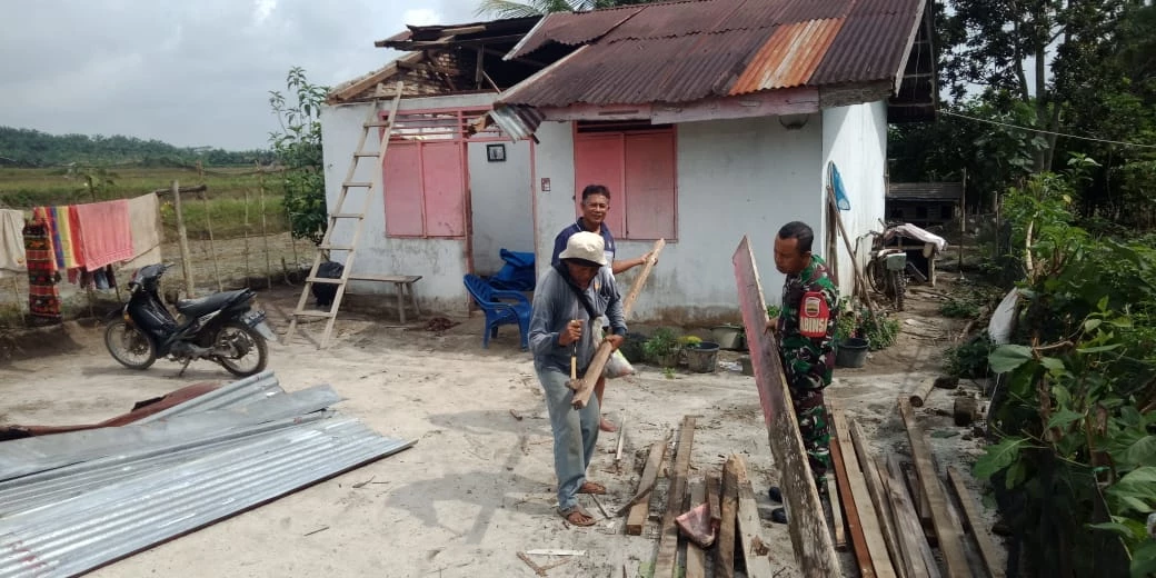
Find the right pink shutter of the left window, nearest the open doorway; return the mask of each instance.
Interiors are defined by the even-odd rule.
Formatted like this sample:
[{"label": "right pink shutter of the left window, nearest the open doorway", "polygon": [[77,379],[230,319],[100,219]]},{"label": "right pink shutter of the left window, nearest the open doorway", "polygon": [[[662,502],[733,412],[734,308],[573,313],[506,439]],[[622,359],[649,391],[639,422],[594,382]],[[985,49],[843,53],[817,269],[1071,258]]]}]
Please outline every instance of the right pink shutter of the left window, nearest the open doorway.
[{"label": "right pink shutter of the left window, nearest the open doorway", "polygon": [[464,144],[457,141],[422,143],[427,236],[460,237],[466,234],[462,149]]}]

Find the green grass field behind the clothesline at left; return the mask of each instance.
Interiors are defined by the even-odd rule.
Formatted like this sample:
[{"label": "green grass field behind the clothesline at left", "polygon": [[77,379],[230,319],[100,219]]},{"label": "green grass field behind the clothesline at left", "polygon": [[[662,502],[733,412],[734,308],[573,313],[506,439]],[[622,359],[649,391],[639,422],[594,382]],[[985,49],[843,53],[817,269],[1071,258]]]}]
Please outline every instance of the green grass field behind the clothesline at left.
[{"label": "green grass field behind the clothesline at left", "polygon": [[[197,171],[186,169],[116,169],[109,175],[112,184],[92,195],[84,186],[84,179],[69,178],[64,169],[0,169],[0,207],[30,209],[38,206],[127,199],[170,188],[172,181],[177,180],[183,187],[201,184],[208,187],[206,193],[181,195],[185,228],[191,238],[207,238],[209,221],[215,238],[240,237],[246,230],[250,236],[255,236],[261,235],[260,191],[264,177],[265,230],[268,234],[287,231],[288,220],[279,176],[259,176],[252,172],[251,166],[213,168],[206,169],[201,177]],[[162,195],[161,202],[161,215],[169,236],[177,230],[171,195]]]}]

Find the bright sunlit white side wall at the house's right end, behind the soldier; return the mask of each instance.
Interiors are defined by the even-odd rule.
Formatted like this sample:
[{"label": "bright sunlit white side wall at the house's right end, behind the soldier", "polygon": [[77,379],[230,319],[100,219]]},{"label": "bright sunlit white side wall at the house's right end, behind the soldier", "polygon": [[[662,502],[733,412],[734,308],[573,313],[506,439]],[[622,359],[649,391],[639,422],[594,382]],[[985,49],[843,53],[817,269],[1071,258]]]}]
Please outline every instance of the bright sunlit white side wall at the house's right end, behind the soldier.
[{"label": "bright sunlit white side wall at the house's right end, behind the soldier", "polygon": [[[879,101],[827,109],[822,114],[823,184],[827,184],[827,163],[835,161],[851,201],[851,210],[839,213],[854,246],[860,236],[881,230],[879,220],[883,218],[887,193],[883,178],[887,163],[887,103]],[[818,239],[825,239],[825,236],[816,235],[816,246],[822,246]],[[838,247],[839,292],[851,295],[854,288],[851,258],[842,239]],[[864,238],[859,243],[857,255],[860,266],[866,262],[869,251],[870,239]]]}]

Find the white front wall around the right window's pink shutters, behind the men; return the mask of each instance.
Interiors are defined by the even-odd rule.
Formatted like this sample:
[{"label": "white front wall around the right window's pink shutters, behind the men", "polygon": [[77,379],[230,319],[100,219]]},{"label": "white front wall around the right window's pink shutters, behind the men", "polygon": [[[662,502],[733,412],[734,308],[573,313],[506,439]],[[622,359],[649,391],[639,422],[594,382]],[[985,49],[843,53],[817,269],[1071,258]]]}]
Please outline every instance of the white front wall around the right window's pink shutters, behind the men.
[{"label": "white front wall around the right window's pink shutters, behind the men", "polygon": [[[541,273],[554,237],[575,218],[573,140],[566,123],[546,123],[536,134],[535,177],[551,183],[550,192],[535,184]],[[662,251],[632,320],[740,320],[732,257],[744,235],[755,249],[766,301],[777,304],[783,275],[775,269],[772,245],[779,227],[799,220],[816,235],[821,230],[822,142],[818,114],[798,131],[773,117],[679,125],[679,238]],[[618,255],[633,258],[650,246],[623,240]],[[620,276],[623,292],[637,271]]]}]

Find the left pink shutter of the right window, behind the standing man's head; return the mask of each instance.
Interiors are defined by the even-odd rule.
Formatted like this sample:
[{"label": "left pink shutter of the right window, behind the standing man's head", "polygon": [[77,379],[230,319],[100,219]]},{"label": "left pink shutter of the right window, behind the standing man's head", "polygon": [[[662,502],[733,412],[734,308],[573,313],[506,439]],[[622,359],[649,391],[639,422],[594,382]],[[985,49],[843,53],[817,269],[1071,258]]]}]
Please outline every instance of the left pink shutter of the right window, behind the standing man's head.
[{"label": "left pink shutter of the right window, behind the standing man's head", "polygon": [[[623,162],[621,134],[575,136],[575,201],[581,203],[581,190],[586,185],[609,187],[610,212],[606,215],[606,224],[615,236],[625,234]],[[581,207],[576,205],[576,210],[581,215]]]}]

